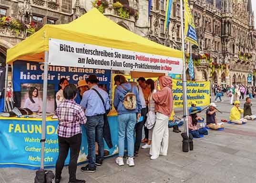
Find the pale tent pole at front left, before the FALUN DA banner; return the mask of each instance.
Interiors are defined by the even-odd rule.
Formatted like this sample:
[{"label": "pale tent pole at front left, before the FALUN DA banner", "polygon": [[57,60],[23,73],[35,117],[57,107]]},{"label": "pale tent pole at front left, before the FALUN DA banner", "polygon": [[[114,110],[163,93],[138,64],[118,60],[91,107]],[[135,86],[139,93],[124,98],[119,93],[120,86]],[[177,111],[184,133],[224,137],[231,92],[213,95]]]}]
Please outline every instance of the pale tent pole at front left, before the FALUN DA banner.
[{"label": "pale tent pole at front left, before the FALUN DA banner", "polygon": [[45,124],[46,124],[47,76],[48,76],[48,51],[44,51],[43,98],[42,98],[42,134],[41,134],[41,169],[44,168],[44,142],[45,142]]}]

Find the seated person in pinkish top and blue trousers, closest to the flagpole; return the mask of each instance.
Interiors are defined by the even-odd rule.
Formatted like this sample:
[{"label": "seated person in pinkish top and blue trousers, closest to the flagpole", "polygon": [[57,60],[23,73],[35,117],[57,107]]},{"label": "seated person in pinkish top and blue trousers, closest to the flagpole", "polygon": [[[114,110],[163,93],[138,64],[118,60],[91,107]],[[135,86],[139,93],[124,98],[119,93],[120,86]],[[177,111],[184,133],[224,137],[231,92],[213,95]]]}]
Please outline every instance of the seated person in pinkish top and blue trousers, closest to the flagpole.
[{"label": "seated person in pinkish top and blue trousers, closest to the flagpole", "polygon": [[195,138],[199,138],[200,135],[208,135],[208,131],[205,128],[198,128],[197,125],[197,108],[193,107],[191,109],[190,115],[188,116],[188,130]]}]

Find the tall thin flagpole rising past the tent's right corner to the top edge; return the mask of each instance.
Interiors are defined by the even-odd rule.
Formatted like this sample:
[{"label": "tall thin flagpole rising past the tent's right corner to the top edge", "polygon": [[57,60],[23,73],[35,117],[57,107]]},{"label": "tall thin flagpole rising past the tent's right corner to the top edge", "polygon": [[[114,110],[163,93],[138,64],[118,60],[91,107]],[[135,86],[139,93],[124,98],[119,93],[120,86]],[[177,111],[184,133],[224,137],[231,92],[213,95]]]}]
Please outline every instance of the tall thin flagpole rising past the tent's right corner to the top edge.
[{"label": "tall thin flagpole rising past the tent's right corner to the top edge", "polygon": [[185,65],[185,46],[184,46],[184,23],[183,23],[183,0],[180,0],[181,7],[181,37],[182,37],[182,51],[183,51],[183,118],[184,130],[188,136],[188,119],[187,119],[187,80],[186,80],[186,65]]}]

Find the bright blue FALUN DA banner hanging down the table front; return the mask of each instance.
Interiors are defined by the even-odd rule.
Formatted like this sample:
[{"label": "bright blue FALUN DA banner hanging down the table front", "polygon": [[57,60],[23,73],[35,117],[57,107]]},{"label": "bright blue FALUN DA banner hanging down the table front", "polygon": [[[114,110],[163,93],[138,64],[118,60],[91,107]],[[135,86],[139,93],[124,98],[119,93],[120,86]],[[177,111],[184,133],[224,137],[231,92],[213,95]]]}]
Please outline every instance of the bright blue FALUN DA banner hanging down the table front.
[{"label": "bright blue FALUN DA banner hanging down the table front", "polygon": [[[109,117],[113,148],[109,149],[104,142],[104,154],[111,156],[118,153],[117,116]],[[0,120],[0,167],[23,167],[39,169],[41,161],[41,121]],[[58,121],[46,122],[46,142],[44,148],[45,167],[55,166],[59,154]],[[82,145],[78,163],[87,161],[87,136],[82,126]],[[69,162],[69,155],[65,164]]]}]

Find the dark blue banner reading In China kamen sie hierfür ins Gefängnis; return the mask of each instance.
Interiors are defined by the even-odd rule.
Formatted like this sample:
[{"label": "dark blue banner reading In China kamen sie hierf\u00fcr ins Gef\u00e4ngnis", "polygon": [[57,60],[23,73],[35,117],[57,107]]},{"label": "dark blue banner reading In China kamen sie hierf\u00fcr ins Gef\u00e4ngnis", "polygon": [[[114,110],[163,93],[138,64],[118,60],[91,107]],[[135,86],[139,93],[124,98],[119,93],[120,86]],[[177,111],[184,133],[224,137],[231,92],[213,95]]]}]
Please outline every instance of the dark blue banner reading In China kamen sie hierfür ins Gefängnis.
[{"label": "dark blue banner reading In China kamen sie hierf\u00fcr ins Gef\u00e4ngnis", "polygon": [[[30,88],[38,90],[38,103],[42,106],[44,64],[31,61],[15,61],[13,63],[13,91],[15,106],[24,107],[29,98]],[[70,84],[86,80],[90,74],[95,74],[108,92],[110,87],[111,70],[89,69],[76,67],[49,66],[47,87],[47,112],[54,112],[55,98],[61,78],[66,78]]]}]

